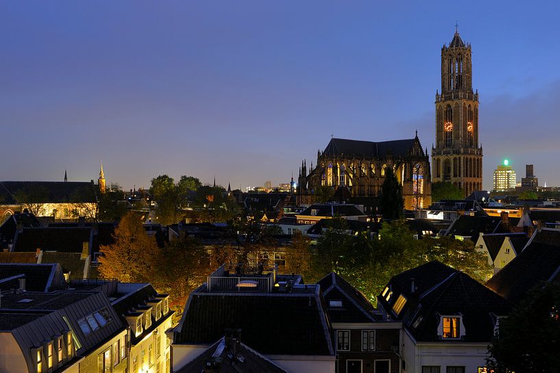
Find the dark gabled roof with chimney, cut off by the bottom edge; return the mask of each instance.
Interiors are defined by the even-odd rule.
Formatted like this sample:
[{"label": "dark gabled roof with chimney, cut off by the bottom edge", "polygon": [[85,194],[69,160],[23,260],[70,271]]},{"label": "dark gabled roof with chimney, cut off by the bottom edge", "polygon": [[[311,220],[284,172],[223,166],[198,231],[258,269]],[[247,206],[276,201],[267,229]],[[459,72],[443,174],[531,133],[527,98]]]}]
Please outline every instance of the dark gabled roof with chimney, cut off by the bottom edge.
[{"label": "dark gabled roof with chimney, cut off by the bottom edge", "polygon": [[[243,336],[243,332],[241,333]],[[287,370],[280,368],[278,365],[260,355],[246,344],[241,343],[241,356],[243,362],[235,359],[230,349],[226,346],[226,341],[221,338],[215,344],[212,344],[208,350],[202,352],[199,357],[178,370],[178,373],[200,373],[205,372],[206,363],[213,361],[215,358],[221,358],[219,369],[213,370],[216,373],[287,373]]]}]

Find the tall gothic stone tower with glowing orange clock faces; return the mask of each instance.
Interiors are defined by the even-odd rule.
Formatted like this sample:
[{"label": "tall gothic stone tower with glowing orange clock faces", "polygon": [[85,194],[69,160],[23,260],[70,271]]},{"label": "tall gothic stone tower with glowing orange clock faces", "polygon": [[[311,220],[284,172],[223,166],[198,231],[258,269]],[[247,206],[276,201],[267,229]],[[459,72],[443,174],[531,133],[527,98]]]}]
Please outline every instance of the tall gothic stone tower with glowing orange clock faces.
[{"label": "tall gothic stone tower with glowing orange clock faces", "polygon": [[478,146],[478,91],[472,90],[471,46],[455,31],[441,48],[441,94],[435,94],[433,182],[449,181],[468,196],[482,189],[483,149]]}]

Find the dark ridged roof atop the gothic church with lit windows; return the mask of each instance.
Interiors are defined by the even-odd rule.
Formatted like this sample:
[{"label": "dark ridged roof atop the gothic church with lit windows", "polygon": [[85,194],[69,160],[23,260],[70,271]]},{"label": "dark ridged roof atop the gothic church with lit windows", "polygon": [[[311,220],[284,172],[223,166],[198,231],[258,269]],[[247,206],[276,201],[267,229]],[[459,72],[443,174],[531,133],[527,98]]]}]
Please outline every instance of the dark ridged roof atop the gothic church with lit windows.
[{"label": "dark ridged roof atop the gothic church with lit windows", "polygon": [[325,148],[324,153],[327,155],[353,155],[365,157],[387,157],[388,154],[393,156],[404,157],[412,148],[416,139],[391,140],[391,141],[362,141],[347,140],[341,138],[332,138]]}]

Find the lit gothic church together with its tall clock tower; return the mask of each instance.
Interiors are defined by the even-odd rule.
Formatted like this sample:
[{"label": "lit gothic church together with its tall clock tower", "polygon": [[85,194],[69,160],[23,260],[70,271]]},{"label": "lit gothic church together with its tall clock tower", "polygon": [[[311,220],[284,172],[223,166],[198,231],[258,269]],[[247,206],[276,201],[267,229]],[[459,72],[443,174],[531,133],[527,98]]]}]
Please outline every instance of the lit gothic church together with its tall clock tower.
[{"label": "lit gothic church together with its tall clock tower", "polygon": [[465,195],[482,188],[482,148],[478,146],[478,92],[472,91],[471,46],[456,31],[441,49],[441,94],[436,93],[436,146],[418,136],[384,142],[332,138],[317,152],[315,167],[302,163],[297,203],[313,203],[317,188],[343,190],[350,197],[378,197],[388,167],[402,185],[405,209],[428,207],[431,182],[450,181]]}]

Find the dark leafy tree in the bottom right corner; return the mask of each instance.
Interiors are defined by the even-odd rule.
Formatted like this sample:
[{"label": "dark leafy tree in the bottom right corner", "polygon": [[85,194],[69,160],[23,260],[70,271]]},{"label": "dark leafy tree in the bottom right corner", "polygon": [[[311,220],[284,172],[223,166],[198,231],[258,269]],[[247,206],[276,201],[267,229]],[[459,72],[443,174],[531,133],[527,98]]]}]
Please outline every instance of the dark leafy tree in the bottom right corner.
[{"label": "dark leafy tree in the bottom right corner", "polygon": [[496,373],[560,372],[560,283],[539,283],[498,325],[489,368]]}]

